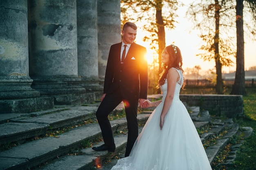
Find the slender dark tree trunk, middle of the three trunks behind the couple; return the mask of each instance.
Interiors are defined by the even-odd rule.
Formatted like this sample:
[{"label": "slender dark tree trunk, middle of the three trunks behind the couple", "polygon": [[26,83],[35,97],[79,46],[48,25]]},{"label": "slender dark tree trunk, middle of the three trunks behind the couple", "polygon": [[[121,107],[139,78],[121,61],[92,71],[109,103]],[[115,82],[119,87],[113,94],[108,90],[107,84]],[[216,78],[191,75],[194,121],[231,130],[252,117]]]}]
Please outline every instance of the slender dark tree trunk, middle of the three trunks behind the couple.
[{"label": "slender dark tree trunk, middle of the three trunks behind the couple", "polygon": [[215,63],[216,63],[216,93],[223,94],[223,81],[222,81],[222,63],[220,62],[219,54],[219,26],[220,26],[220,5],[218,0],[215,0],[215,36],[214,36],[214,49],[215,49]]}]

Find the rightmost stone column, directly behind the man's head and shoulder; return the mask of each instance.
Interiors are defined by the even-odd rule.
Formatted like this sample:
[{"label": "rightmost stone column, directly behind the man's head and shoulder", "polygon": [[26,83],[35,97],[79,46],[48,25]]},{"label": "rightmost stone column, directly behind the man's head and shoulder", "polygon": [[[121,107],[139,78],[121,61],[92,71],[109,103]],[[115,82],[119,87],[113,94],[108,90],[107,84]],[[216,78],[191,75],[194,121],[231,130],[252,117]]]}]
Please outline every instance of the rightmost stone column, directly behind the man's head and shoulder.
[{"label": "rightmost stone column, directly behind the man's head and shoulder", "polygon": [[99,78],[105,77],[110,46],[121,42],[120,0],[97,0]]}]

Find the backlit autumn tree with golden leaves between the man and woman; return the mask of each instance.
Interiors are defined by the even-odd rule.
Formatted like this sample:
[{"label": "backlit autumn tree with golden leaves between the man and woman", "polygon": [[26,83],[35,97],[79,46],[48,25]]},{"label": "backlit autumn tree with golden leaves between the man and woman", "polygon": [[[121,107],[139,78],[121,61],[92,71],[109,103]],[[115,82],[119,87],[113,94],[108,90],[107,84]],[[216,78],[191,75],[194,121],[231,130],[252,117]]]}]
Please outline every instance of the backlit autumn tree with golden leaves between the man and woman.
[{"label": "backlit autumn tree with golden leaves between the man and woman", "polygon": [[165,29],[174,29],[177,0],[121,0],[121,16],[123,21],[134,20],[141,22],[149,34],[144,41],[150,41],[151,49],[158,54],[161,68],[162,51],[165,48]]}]

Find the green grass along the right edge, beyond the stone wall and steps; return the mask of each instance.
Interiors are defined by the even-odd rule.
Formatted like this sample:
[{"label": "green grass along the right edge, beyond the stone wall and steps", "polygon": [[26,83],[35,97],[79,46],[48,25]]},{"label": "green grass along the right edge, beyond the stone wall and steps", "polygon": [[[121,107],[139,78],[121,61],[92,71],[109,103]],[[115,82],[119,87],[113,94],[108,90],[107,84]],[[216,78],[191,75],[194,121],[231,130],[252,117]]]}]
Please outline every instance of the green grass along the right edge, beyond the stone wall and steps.
[{"label": "green grass along the right edge, beyond the stone wall and steps", "polygon": [[235,170],[256,170],[256,94],[243,96],[245,117],[234,121],[240,127],[252,127],[254,132],[239,148],[234,162]]}]

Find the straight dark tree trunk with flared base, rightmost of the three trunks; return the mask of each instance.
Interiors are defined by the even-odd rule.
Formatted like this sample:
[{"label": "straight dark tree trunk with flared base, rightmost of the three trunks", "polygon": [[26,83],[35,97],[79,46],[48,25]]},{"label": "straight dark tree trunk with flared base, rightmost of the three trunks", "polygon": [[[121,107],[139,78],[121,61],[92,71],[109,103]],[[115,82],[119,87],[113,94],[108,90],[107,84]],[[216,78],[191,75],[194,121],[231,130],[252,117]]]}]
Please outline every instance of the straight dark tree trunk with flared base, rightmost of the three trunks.
[{"label": "straight dark tree trunk with flared base, rightmost of the three trunks", "polygon": [[243,29],[243,0],[236,0],[236,77],[231,94],[245,95],[245,49]]}]

